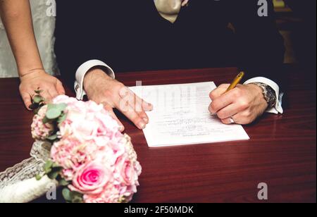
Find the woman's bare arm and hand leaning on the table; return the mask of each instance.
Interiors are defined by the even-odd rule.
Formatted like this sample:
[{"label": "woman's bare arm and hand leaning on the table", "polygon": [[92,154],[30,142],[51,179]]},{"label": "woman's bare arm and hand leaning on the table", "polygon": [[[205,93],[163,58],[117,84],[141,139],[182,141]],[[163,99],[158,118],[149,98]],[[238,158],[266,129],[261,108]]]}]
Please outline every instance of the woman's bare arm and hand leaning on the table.
[{"label": "woman's bare arm and hand leaning on the table", "polygon": [[20,94],[28,108],[35,89],[47,100],[64,94],[61,82],[43,68],[32,25],[29,0],[0,0],[0,16],[6,27],[20,75]]}]

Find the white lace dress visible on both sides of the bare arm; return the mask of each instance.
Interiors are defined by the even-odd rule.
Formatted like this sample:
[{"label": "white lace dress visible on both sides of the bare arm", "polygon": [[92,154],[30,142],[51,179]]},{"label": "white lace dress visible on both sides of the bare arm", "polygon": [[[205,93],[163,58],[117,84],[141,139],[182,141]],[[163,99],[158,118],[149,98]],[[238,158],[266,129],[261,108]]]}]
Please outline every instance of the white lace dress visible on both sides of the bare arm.
[{"label": "white lace dress visible on both sides of the bare arm", "polygon": [[[54,55],[55,17],[47,16],[46,11],[55,0],[30,0],[32,17],[39,52],[46,72],[57,75]],[[54,2],[53,2],[54,3]],[[46,5],[48,4],[48,5]],[[6,37],[4,25],[0,20],[0,77],[18,77],[15,60]]]}]

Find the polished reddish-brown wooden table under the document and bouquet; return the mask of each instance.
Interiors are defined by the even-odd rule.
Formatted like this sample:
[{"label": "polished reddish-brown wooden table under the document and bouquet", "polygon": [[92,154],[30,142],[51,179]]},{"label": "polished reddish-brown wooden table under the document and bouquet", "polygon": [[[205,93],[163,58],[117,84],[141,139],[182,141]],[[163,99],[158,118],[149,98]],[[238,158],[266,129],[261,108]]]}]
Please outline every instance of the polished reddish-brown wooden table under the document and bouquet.
[{"label": "polished reddish-brown wooden table under the document and bouquet", "polygon": [[[285,113],[265,114],[245,126],[249,141],[152,149],[143,132],[120,116],[143,167],[133,202],[259,202],[260,182],[268,185],[268,202],[316,202],[316,81],[302,73],[287,71]],[[130,86],[136,81],[219,85],[236,74],[235,68],[218,68],[118,73],[117,78]],[[29,157],[31,122],[18,79],[0,79],[0,171]]]}]

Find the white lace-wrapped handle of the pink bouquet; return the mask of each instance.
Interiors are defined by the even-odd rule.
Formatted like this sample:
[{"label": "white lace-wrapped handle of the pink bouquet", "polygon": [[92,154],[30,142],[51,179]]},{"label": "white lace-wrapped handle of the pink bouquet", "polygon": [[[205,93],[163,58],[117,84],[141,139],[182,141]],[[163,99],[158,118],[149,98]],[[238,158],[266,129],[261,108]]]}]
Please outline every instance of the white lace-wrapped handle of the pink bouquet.
[{"label": "white lace-wrapped handle of the pink bouquet", "polygon": [[31,158],[0,173],[0,203],[26,203],[48,192],[57,183],[46,176],[37,181],[35,176],[43,173],[49,159],[49,144],[35,142]]}]

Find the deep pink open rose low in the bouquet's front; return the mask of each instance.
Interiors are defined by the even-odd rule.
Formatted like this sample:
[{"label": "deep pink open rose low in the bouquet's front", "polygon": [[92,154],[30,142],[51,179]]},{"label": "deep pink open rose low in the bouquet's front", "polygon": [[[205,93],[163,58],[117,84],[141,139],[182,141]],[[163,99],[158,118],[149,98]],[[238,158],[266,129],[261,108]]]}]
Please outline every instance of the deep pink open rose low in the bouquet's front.
[{"label": "deep pink open rose low in the bouquet's front", "polygon": [[78,169],[69,188],[82,194],[100,194],[111,179],[112,173],[105,165],[92,162]]}]

